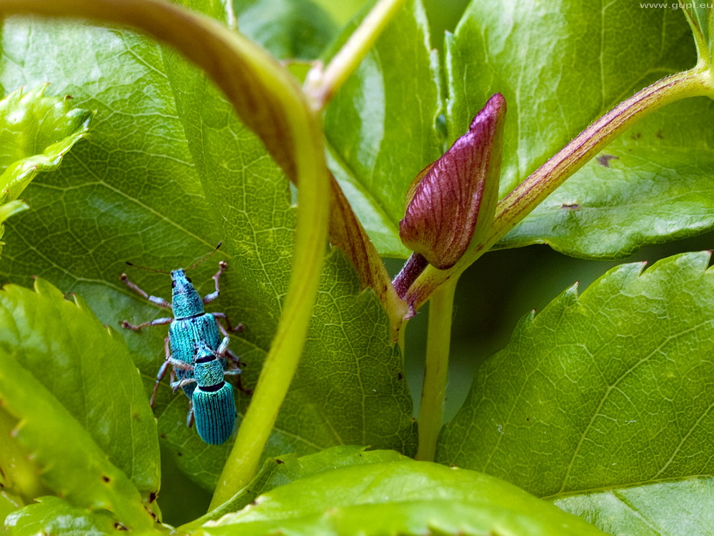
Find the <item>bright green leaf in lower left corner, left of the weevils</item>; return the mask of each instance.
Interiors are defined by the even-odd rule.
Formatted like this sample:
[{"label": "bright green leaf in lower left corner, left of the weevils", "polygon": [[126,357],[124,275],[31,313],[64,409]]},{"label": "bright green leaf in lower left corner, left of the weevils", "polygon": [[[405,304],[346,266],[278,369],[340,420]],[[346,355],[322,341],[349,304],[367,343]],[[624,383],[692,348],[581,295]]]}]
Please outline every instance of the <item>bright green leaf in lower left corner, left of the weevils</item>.
[{"label": "bright green leaf in lower left corner, left of the weevils", "polygon": [[0,397],[19,420],[11,436],[72,505],[149,530],[159,444],[126,345],[80,299],[41,279],[35,290],[0,292]]}]

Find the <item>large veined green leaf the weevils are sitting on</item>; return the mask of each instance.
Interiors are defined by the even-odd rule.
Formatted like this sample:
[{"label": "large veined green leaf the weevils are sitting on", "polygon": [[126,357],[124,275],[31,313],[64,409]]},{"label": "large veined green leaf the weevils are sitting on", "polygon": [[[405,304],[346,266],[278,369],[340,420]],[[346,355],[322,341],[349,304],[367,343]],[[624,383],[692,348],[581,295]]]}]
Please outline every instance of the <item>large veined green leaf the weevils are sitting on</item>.
[{"label": "large veined green leaf the weevils are sitting on", "polygon": [[[215,2],[193,1],[219,18]],[[91,54],[76,54],[78,43]],[[18,246],[0,265],[4,279],[41,274],[88,300],[117,326],[165,316],[119,281],[124,260],[171,269],[186,267],[223,240],[216,256],[228,262],[221,298],[246,332],[231,347],[248,365],[253,385],[281,313],[291,268],[294,208],[288,182],[261,142],[236,119],[203,74],[126,31],[88,26],[9,22],[0,82],[52,79],[76,101],[96,109],[91,143],[68,159],[56,177],[27,190],[34,211],[9,230]],[[71,76],[69,75],[71,74]],[[209,208],[210,207],[210,208]],[[31,243],[31,237],[40,238]],[[24,249],[31,244],[32,250]],[[211,292],[216,264],[191,274]],[[169,278],[129,272],[147,292],[169,297]],[[166,329],[124,332],[150,389],[164,359]],[[268,453],[313,452],[360,443],[413,452],[411,397],[388,317],[371,292],[361,292],[341,252],[330,252],[303,362],[278,417]],[[186,428],[187,400],[160,389],[159,431],[178,462],[213,487],[230,443],[203,444]],[[238,396],[242,410],[248,398]]]}]

